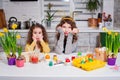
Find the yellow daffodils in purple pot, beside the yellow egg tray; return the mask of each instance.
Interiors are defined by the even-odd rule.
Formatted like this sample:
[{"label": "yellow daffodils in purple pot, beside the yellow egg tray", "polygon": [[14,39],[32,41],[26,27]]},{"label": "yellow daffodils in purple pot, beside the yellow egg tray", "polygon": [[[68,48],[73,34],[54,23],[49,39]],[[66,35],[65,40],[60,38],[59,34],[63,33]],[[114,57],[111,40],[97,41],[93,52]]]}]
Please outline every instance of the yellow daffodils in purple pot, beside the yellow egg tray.
[{"label": "yellow daffodils in purple pot, beside the yellow egg tray", "polygon": [[120,49],[120,33],[108,30],[107,28],[103,28],[103,30],[106,32],[105,46],[107,50],[108,65],[115,65]]}]

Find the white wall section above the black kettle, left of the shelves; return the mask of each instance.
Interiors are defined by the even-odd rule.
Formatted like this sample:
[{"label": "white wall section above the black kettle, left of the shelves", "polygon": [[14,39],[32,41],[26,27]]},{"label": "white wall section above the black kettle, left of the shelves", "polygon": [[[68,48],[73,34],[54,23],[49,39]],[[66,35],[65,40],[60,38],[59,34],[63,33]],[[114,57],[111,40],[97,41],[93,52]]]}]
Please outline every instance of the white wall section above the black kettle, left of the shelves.
[{"label": "white wall section above the black kettle, left of the shelves", "polygon": [[41,22],[41,0],[33,2],[10,2],[3,0],[3,8],[5,10],[6,20],[14,16],[18,21],[25,21],[29,18]]}]

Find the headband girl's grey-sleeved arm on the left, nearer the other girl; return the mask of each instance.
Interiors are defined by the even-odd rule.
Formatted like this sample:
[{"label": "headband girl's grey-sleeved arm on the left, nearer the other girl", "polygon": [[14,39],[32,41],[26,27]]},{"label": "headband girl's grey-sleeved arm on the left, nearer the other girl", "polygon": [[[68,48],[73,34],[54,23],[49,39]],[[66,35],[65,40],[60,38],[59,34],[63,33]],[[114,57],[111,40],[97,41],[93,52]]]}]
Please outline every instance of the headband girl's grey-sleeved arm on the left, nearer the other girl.
[{"label": "headband girl's grey-sleeved arm on the left, nearer the other girl", "polygon": [[61,54],[63,53],[64,32],[62,29],[58,29],[58,32],[60,33],[60,38],[56,43],[55,52]]}]

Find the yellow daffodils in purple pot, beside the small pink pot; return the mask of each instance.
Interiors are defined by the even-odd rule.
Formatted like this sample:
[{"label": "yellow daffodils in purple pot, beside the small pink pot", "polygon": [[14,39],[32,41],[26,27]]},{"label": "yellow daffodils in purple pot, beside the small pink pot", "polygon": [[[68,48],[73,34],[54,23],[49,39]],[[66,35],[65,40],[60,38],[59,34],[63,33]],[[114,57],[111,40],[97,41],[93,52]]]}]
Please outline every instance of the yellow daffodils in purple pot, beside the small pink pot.
[{"label": "yellow daffodils in purple pot, beside the small pink pot", "polygon": [[3,28],[3,32],[0,32],[0,45],[7,56],[8,65],[15,65],[17,39],[20,39],[20,35],[15,31],[16,28],[17,25],[13,24],[13,30],[9,31],[7,28]]}]

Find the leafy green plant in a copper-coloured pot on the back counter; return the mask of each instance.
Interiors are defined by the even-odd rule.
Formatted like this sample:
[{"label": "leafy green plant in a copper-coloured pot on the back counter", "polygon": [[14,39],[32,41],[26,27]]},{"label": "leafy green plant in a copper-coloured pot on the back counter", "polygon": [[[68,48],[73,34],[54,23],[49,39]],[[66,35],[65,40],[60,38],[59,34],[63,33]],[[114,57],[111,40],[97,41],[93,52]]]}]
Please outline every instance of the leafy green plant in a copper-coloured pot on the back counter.
[{"label": "leafy green plant in a copper-coloured pot on the back counter", "polygon": [[92,15],[92,18],[88,19],[89,27],[93,27],[93,28],[97,27],[97,19],[93,18],[93,15],[94,15],[95,11],[97,11],[99,9],[100,6],[101,6],[101,4],[100,4],[99,0],[88,0],[86,2],[86,8],[88,11],[91,12],[91,15]]}]

